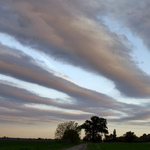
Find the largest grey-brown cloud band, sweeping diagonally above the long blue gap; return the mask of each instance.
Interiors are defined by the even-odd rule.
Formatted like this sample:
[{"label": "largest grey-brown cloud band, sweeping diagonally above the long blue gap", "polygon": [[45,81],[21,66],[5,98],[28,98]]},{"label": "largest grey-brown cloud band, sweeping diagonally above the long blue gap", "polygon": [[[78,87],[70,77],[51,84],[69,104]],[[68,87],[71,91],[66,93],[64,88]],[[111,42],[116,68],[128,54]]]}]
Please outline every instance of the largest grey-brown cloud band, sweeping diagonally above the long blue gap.
[{"label": "largest grey-brown cloud band, sweeping diagonally above the long blue gap", "polygon": [[[150,78],[132,60],[132,49],[96,20],[95,16],[110,14],[117,4],[112,9],[102,1],[95,3],[1,1],[0,31],[58,61],[103,75],[125,96],[149,98]],[[90,8],[82,10],[84,6]]]}]

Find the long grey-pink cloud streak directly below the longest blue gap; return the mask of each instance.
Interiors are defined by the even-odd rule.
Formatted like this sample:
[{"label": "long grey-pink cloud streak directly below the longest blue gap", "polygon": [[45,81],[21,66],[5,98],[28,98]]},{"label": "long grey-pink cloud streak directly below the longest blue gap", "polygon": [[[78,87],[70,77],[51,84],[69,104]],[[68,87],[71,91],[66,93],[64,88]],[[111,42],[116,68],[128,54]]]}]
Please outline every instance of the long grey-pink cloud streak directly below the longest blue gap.
[{"label": "long grey-pink cloud streak directly below the longest blue gap", "polygon": [[[53,72],[49,72],[36,65],[34,60],[24,53],[20,55],[20,52],[15,51],[15,55],[12,55],[6,48],[4,50],[5,51],[1,51],[0,55],[0,57],[3,58],[3,61],[0,61],[1,74],[61,91],[68,96],[73,97],[78,104],[80,103],[85,107],[92,104],[93,107],[100,106],[110,108],[109,103],[112,103],[111,109],[117,109],[119,104],[122,105],[122,103],[105,94],[80,87],[63,77],[55,76]],[[7,53],[9,53],[9,55],[5,55]],[[11,59],[9,59],[10,57]],[[24,63],[24,58],[28,58],[26,63]],[[15,60],[14,63],[13,60]]]}]

